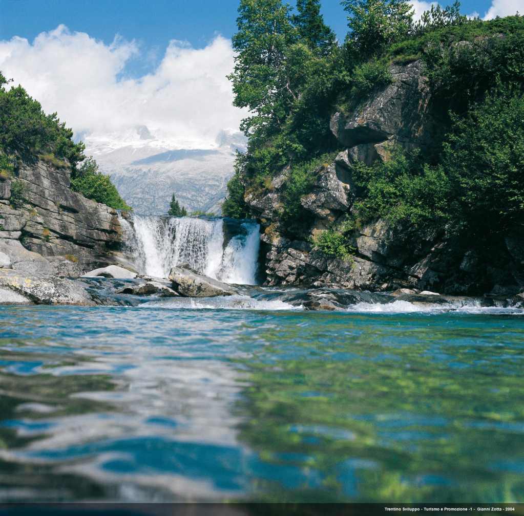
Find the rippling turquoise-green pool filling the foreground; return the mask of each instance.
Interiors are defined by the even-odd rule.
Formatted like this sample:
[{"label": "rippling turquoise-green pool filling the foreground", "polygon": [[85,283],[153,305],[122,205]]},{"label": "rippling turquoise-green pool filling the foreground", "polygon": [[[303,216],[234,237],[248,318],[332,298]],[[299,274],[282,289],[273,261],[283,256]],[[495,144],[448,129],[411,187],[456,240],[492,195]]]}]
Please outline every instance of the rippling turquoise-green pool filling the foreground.
[{"label": "rippling turquoise-green pool filling the foreground", "polygon": [[0,501],[524,501],[524,316],[478,312],[3,306]]}]

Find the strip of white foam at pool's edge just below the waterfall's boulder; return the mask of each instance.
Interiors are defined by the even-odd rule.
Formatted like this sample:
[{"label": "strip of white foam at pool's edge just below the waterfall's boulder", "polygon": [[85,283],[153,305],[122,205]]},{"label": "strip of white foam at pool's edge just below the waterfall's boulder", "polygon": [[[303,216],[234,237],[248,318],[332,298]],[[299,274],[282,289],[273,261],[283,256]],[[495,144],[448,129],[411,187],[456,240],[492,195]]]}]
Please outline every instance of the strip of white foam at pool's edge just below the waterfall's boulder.
[{"label": "strip of white foam at pool's edge just below the waterfall's boulder", "polygon": [[168,298],[148,301],[140,308],[166,309],[222,309],[222,310],[302,310],[302,306],[293,306],[284,301],[264,301],[250,298],[248,295],[220,295],[215,298]]}]

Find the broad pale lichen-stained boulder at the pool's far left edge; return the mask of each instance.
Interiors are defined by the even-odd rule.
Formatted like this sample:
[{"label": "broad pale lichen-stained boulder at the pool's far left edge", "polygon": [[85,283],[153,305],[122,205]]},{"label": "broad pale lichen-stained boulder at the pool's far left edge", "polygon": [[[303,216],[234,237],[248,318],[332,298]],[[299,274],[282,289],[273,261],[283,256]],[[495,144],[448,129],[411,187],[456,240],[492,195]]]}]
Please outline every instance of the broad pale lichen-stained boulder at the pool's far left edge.
[{"label": "broad pale lichen-stained boulder at the pool's far left edge", "polygon": [[0,269],[0,287],[17,292],[37,304],[96,304],[85,288],[65,278],[41,278],[23,275],[12,269]]}]

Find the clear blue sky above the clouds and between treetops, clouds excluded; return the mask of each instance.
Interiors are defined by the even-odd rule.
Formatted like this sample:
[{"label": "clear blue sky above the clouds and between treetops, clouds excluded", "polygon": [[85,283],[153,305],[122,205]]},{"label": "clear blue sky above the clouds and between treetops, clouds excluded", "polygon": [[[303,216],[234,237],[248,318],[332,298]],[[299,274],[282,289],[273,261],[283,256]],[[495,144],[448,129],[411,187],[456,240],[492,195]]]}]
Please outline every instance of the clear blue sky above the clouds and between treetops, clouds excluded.
[{"label": "clear blue sky above the clouds and between treetops, clouds excluded", "polygon": [[[491,5],[491,0],[463,0],[461,10],[483,16]],[[231,38],[237,7],[238,0],[0,0],[0,39],[32,40],[64,24],[105,43],[119,34],[150,49],[163,50],[171,39],[202,48],[217,32]],[[340,3],[324,0],[322,13],[343,38],[346,19]]]}]

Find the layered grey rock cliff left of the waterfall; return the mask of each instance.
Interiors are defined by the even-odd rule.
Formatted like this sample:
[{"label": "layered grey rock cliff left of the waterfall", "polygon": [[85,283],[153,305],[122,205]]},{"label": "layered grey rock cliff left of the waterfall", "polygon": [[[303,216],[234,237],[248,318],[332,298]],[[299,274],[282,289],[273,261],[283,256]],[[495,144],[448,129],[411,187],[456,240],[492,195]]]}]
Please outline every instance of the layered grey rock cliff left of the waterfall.
[{"label": "layered grey rock cliff left of the waterfall", "polygon": [[16,177],[0,178],[0,267],[78,277],[117,261],[115,210],[72,191],[62,163],[20,159],[17,167]]}]

